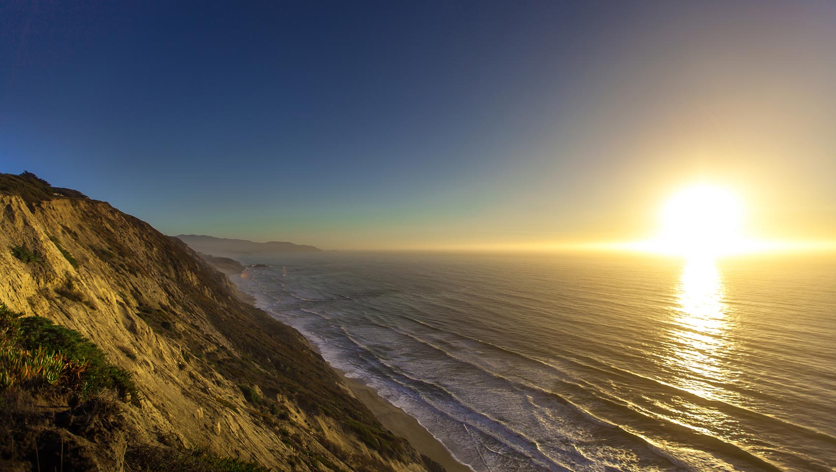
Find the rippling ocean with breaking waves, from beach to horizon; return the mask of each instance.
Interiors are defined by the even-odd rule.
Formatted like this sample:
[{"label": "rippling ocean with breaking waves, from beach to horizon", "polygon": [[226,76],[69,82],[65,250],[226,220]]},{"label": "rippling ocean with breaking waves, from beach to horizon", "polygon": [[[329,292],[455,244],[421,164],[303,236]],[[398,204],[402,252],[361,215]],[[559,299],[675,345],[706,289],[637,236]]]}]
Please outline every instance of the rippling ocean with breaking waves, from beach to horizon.
[{"label": "rippling ocean with breaking waves, from beach to horizon", "polygon": [[325,252],[236,282],[477,471],[836,469],[836,258]]}]

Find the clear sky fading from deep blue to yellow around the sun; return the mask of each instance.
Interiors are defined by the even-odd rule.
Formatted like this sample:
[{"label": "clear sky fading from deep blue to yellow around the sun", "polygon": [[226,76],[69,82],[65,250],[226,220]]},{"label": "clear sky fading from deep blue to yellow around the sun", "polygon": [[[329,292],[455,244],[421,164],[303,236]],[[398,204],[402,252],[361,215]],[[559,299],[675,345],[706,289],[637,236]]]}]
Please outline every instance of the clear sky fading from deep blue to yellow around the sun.
[{"label": "clear sky fading from deep blue to yellow around the sun", "polygon": [[833,236],[834,8],[732,5],[3,2],[0,171],[338,249],[640,236],[701,179]]}]

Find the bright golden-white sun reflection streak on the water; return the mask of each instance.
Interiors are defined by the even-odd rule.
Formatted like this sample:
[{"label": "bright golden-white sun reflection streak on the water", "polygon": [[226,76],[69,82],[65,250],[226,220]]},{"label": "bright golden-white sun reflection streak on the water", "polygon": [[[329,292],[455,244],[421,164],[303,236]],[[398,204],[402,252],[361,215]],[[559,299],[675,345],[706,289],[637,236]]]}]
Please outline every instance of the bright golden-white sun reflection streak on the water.
[{"label": "bright golden-white sun reflection streak on the water", "polygon": [[731,348],[725,288],[715,262],[706,259],[687,261],[677,287],[669,363],[681,374],[681,387],[703,398],[728,394],[721,388],[730,381],[723,360]]}]

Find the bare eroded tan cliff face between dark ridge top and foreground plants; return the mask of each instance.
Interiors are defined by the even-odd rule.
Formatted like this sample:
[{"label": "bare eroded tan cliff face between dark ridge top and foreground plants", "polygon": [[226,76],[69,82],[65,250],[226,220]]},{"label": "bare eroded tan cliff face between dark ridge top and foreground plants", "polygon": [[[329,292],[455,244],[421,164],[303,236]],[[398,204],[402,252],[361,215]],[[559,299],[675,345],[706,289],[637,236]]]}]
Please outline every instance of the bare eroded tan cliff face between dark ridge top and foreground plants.
[{"label": "bare eroded tan cliff face between dark ridge top and foreground plants", "polygon": [[[125,448],[200,447],[277,470],[426,470],[298,332],[107,203],[0,193],[0,302],[84,333],[133,375]],[[116,449],[101,469],[123,467]]]}]

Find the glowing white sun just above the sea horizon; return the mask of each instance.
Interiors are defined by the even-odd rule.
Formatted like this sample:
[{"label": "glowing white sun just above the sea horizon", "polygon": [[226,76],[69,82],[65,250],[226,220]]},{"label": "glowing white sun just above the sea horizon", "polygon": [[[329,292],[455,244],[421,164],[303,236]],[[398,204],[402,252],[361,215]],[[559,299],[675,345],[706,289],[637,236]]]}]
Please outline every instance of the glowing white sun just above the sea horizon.
[{"label": "glowing white sun just above the sea horizon", "polygon": [[709,259],[742,246],[743,206],[732,193],[716,185],[680,190],[662,209],[656,250]]}]

